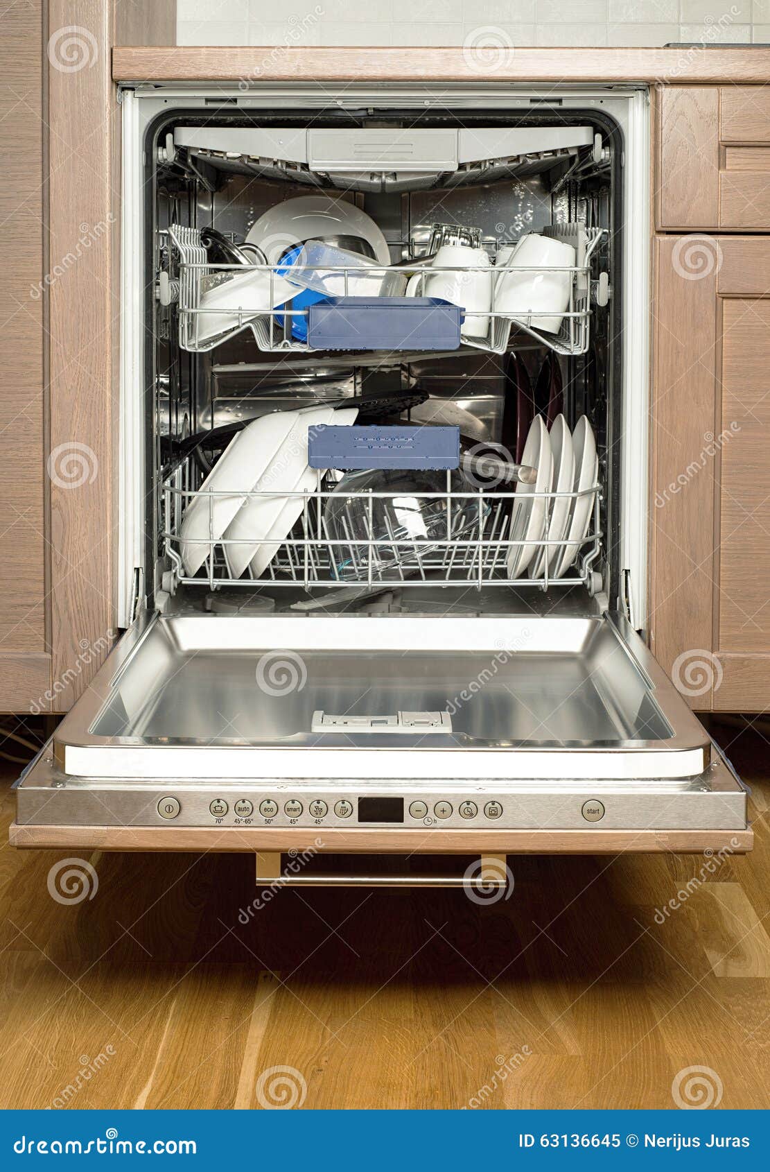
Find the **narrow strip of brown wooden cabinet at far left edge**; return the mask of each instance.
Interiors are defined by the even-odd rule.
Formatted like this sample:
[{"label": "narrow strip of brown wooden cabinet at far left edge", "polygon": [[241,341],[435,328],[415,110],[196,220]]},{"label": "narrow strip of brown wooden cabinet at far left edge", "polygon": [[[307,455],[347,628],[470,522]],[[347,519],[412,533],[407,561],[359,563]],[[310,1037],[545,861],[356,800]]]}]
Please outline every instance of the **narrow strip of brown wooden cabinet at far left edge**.
[{"label": "narrow strip of brown wooden cabinet at far left edge", "polygon": [[43,491],[42,2],[11,5],[0,38],[0,711],[50,688]]}]

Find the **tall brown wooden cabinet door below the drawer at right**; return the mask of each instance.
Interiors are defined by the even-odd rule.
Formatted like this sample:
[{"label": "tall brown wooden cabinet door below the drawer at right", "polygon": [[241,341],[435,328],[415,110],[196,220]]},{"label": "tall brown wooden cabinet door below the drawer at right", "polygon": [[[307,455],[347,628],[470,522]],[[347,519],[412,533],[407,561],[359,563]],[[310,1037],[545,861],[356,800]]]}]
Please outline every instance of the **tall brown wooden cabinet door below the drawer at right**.
[{"label": "tall brown wooden cabinet door below the drawer at right", "polygon": [[[695,246],[655,240],[652,646],[694,708],[758,711],[770,706],[770,238],[701,241],[694,267]],[[703,673],[688,677],[695,661]]]}]

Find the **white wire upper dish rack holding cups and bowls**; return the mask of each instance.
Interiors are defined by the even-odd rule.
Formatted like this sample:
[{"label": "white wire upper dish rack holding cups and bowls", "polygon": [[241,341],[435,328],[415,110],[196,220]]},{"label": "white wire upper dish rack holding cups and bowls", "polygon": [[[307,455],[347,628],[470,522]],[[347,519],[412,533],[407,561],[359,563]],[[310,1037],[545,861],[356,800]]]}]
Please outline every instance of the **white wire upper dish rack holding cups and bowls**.
[{"label": "white wire upper dish rack holding cups and bowls", "polygon": [[[491,309],[483,312],[483,316],[490,320],[489,335],[484,339],[463,335],[461,350],[504,354],[509,347],[511,331],[516,328],[557,354],[586,353],[591,319],[591,258],[605,234],[605,230],[586,229],[581,224],[561,224],[546,227],[544,234],[574,247],[574,266],[523,267],[519,272],[568,274],[568,302],[566,309],[558,314],[561,318],[559,332],[548,333],[532,325],[532,319],[544,315],[543,311],[533,311],[529,316],[511,318],[510,314],[499,309],[496,304],[496,274],[495,268],[492,268]],[[171,268],[163,274],[159,299],[165,305],[178,302],[179,346],[183,349],[193,353],[211,350],[234,338],[241,331],[251,329],[259,349],[266,353],[312,353],[307,342],[287,336],[291,335],[291,321],[297,316],[307,318],[309,311],[307,308],[284,311],[284,304],[300,292],[298,285],[287,280],[286,273],[291,270],[287,270],[285,264],[272,266],[265,264],[213,265],[210,264],[206,248],[200,243],[200,230],[175,224],[168,229],[168,238],[171,244]],[[382,274],[383,285],[389,280],[403,279],[404,272],[409,273],[410,271],[425,275],[428,272],[424,261],[421,264],[420,259],[414,261],[414,270],[403,264],[366,270],[368,275]],[[431,273],[443,271],[430,268]],[[445,271],[457,272],[458,270]],[[326,274],[329,272],[339,273],[343,280],[346,294],[352,274],[360,275],[361,273],[360,270],[342,265],[325,265],[322,272]],[[462,270],[462,272],[468,272],[470,278],[477,271]],[[254,278],[250,274],[254,274]],[[264,277],[264,280],[259,282],[259,288],[255,285],[258,274]],[[212,291],[216,293],[217,288],[226,289],[226,292],[212,298]],[[602,297],[604,294],[599,292],[598,295]],[[211,325],[212,320],[216,322],[216,327]],[[219,326],[222,328],[218,328]],[[360,352],[366,353],[367,349],[366,346],[362,346]],[[449,350],[445,353],[456,354],[458,352]]]}]

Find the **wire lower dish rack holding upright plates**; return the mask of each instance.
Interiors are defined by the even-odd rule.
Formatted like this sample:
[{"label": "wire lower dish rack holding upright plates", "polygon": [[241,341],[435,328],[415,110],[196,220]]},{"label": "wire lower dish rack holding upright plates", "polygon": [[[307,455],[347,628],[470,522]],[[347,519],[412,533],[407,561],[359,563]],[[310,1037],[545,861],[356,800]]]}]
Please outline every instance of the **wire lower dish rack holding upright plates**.
[{"label": "wire lower dish rack holding upright plates", "polygon": [[[179,466],[163,484],[162,548],[169,559],[176,584],[207,585],[210,590],[224,586],[252,587],[257,580],[272,587],[304,587],[305,590],[334,590],[339,587],[374,587],[397,584],[400,587],[475,586],[516,584],[517,586],[547,590],[559,586],[582,585],[593,594],[600,588],[598,559],[601,552],[601,499],[599,484],[573,492],[516,492],[511,489],[473,488],[457,491],[447,472],[447,486],[441,492],[421,493],[404,499],[401,492],[345,492],[347,507],[331,529],[328,503],[339,499],[335,482],[327,472],[318,471],[315,486],[306,491],[284,492],[287,502],[295,499],[298,520],[289,533],[270,531],[253,537],[227,539],[214,527],[214,502],[232,498],[232,493],[211,490],[198,491],[192,481],[192,465]],[[238,507],[251,500],[275,499],[279,493],[252,491],[238,493]],[[548,518],[551,505],[558,498],[591,498],[590,519],[585,534],[552,537]],[[207,547],[202,567],[191,574],[185,568],[180,534],[185,509],[193,499],[207,503],[209,533],[196,534],[196,546]],[[355,506],[357,530],[348,523],[350,503]],[[377,504],[388,505],[387,510]],[[404,509],[409,516],[404,517]],[[544,525],[526,525],[520,532],[520,519],[526,510],[544,515]],[[416,532],[410,517],[431,517],[430,532]],[[395,518],[379,526],[375,516]],[[517,523],[518,518],[518,523]],[[231,573],[229,553],[236,546],[258,544],[266,567],[254,575],[247,567],[240,577]],[[526,546],[533,550],[526,565],[511,573],[512,565],[522,561],[515,551]],[[566,551],[570,557],[543,556],[543,551]],[[267,558],[264,551],[267,550]],[[560,574],[553,573],[554,564]]]}]

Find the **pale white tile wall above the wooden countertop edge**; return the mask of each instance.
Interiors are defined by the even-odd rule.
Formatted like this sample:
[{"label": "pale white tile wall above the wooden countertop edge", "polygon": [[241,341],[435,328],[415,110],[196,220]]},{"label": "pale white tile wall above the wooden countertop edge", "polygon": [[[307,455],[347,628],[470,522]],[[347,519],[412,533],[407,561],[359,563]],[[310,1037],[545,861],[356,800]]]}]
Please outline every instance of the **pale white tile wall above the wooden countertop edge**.
[{"label": "pale white tile wall above the wooden countertop edge", "polygon": [[510,45],[770,43],[770,0],[177,0],[179,45],[462,45],[478,30]]}]

